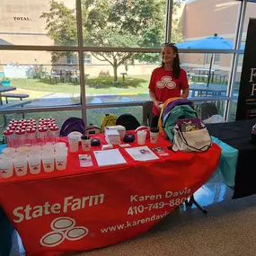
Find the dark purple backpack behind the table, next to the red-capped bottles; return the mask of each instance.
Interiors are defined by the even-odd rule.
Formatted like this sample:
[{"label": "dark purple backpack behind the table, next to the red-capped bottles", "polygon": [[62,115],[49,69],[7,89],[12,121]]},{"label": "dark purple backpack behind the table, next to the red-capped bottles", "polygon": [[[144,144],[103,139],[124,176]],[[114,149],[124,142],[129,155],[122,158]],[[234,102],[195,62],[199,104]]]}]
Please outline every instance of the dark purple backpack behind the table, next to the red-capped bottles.
[{"label": "dark purple backpack behind the table, next to the red-capped bottles", "polygon": [[79,118],[69,118],[66,119],[64,124],[62,125],[59,136],[60,137],[67,137],[71,132],[78,131],[82,134],[85,133],[84,128],[84,120]]}]

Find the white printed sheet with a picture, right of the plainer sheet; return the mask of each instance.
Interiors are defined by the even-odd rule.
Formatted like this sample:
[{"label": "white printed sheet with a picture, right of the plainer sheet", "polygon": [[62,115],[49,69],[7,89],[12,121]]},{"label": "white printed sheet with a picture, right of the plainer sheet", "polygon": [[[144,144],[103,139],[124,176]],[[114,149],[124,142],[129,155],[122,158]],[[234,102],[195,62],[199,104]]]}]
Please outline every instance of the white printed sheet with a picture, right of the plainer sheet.
[{"label": "white printed sheet with a picture, right of the plainer sheet", "polygon": [[147,146],[137,146],[132,148],[125,148],[127,153],[135,161],[150,161],[159,159]]}]

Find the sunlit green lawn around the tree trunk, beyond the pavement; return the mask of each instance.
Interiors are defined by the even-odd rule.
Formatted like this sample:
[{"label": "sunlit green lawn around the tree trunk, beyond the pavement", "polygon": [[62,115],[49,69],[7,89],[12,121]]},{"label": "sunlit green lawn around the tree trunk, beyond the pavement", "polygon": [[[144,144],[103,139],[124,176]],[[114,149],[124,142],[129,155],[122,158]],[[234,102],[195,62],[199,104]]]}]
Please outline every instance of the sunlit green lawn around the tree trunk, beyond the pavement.
[{"label": "sunlit green lawn around the tree trunk, beyond the pavement", "polygon": [[[125,81],[119,77],[113,83],[113,77],[90,77],[86,79],[86,93],[146,93],[150,75],[127,76]],[[78,83],[50,84],[49,79],[11,79],[11,85],[18,89],[48,93],[80,93]]]}]

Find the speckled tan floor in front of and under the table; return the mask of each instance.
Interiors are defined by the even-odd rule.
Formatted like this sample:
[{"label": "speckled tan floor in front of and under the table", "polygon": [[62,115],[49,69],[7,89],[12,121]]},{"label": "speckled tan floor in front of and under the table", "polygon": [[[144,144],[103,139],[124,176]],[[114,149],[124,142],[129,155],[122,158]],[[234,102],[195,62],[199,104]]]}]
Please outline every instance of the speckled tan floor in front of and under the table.
[{"label": "speckled tan floor in front of and under the table", "polygon": [[[207,215],[194,206],[183,206],[135,239],[72,255],[255,256],[256,196],[233,200],[232,195],[233,191],[216,175],[195,194]],[[19,254],[13,250],[11,255]]]}]

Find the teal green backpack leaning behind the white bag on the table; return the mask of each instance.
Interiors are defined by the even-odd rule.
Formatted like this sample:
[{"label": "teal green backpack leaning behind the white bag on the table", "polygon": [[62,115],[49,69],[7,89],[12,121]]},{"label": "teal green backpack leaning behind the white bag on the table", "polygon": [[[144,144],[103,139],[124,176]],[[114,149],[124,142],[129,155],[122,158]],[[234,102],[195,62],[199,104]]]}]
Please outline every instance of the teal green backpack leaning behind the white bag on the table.
[{"label": "teal green backpack leaning behind the white bag on the table", "polygon": [[182,104],[174,106],[169,112],[162,116],[162,125],[165,134],[172,141],[172,129],[176,125],[177,119],[196,119],[198,117],[196,110],[190,107],[190,104]]}]

